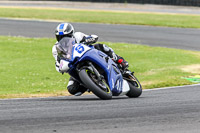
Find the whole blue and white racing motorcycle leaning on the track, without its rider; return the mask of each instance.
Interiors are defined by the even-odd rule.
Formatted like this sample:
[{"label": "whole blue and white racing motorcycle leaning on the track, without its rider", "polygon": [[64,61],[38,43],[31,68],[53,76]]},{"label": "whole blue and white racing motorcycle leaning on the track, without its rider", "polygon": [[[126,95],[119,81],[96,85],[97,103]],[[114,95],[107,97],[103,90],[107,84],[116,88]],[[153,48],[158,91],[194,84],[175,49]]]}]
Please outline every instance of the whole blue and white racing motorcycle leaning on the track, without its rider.
[{"label": "whole blue and white racing motorcycle leaning on the track, without its rider", "polygon": [[123,72],[108,55],[92,45],[80,43],[59,46],[59,49],[65,51],[60,70],[69,73],[100,99],[121,95],[136,98],[142,94],[142,86],[133,72]]}]

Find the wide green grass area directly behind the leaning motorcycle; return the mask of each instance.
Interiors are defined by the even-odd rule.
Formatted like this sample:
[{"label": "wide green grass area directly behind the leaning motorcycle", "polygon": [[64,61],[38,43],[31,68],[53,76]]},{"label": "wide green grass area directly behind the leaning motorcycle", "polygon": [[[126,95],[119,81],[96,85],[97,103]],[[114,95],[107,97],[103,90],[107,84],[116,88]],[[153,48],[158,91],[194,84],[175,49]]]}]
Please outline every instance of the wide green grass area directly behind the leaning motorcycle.
[{"label": "wide green grass area directly behind the leaning motorcycle", "polygon": [[[55,39],[0,36],[0,98],[67,95],[67,74],[56,72]],[[182,68],[200,62],[200,52],[109,43],[130,64],[143,88],[191,84]],[[126,52],[124,52],[126,51]]]}]

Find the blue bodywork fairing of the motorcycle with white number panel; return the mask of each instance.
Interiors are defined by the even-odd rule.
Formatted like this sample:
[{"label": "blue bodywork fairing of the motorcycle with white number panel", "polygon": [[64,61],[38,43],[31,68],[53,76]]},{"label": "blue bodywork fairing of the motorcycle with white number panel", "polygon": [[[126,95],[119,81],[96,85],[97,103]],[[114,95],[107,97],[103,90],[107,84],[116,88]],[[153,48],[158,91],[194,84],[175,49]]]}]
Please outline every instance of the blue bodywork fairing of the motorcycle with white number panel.
[{"label": "blue bodywork fairing of the motorcycle with white number panel", "polygon": [[83,44],[75,44],[72,50],[70,62],[76,60],[76,63],[71,65],[70,70],[68,71],[71,76],[79,79],[78,75],[75,74],[76,64],[84,61],[91,61],[101,67],[106,73],[106,79],[113,96],[118,96],[122,92],[123,78],[116,63],[114,63],[112,59],[108,58],[103,52],[94,49],[92,46],[89,47]]}]

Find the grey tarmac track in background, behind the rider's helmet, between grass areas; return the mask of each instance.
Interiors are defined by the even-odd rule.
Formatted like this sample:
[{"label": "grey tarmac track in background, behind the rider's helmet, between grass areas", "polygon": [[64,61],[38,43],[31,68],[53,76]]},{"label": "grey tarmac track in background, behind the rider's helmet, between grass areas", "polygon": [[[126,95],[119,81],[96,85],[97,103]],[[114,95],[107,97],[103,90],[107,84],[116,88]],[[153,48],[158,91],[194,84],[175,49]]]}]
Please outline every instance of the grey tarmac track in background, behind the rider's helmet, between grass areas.
[{"label": "grey tarmac track in background, behind the rider's helmet, between grass areas", "polygon": [[[55,28],[59,23],[0,18],[0,35],[53,38]],[[200,50],[200,29],[89,23],[72,24],[76,31],[98,35],[99,41]]]}]

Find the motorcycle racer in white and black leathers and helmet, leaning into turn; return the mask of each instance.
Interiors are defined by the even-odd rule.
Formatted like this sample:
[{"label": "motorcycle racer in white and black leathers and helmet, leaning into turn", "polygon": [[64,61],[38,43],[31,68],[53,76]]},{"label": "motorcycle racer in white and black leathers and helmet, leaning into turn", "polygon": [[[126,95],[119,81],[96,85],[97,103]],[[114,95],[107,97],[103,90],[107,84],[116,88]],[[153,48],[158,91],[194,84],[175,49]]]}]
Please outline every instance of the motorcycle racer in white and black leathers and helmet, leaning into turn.
[{"label": "motorcycle racer in white and black leathers and helmet, leaning into turn", "polygon": [[[69,58],[70,57],[70,50],[63,50],[60,49],[59,46],[66,45],[66,43],[71,43],[72,45],[75,43],[84,43],[86,45],[93,44],[94,48],[104,52],[107,54],[112,60],[118,64],[121,70],[125,70],[128,67],[128,62],[125,61],[122,57],[118,56],[114,53],[112,48],[106,46],[105,44],[94,44],[98,40],[97,35],[86,35],[82,32],[74,32],[74,27],[70,23],[61,23],[57,26],[55,31],[55,36],[57,42],[52,48],[52,54],[55,59],[55,67],[56,70],[60,73],[63,73],[60,70],[60,60],[61,58]],[[72,49],[72,45],[67,45],[68,49]],[[70,77],[67,89],[70,94],[80,96],[87,88],[80,85],[73,77]]]}]

